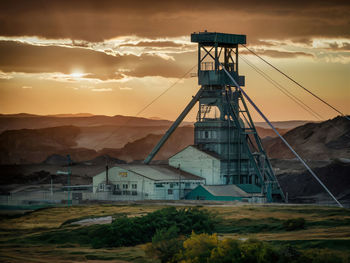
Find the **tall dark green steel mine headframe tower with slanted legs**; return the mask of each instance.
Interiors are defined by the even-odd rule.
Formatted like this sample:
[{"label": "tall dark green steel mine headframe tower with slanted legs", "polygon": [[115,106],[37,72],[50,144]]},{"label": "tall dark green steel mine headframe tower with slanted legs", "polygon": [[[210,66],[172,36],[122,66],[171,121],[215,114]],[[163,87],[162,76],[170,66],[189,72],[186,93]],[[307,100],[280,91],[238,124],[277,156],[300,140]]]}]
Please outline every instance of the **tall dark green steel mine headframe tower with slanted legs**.
[{"label": "tall dark green steel mine headframe tower with slanted legs", "polygon": [[[191,35],[198,43],[198,84],[200,90],[147,156],[148,164],[161,146],[198,102],[194,144],[220,158],[222,184],[258,186],[268,202],[282,201],[283,192],[263,149],[241,91],[245,85],[238,73],[238,45],[245,35],[199,32]],[[230,76],[231,77],[230,77]]]}]

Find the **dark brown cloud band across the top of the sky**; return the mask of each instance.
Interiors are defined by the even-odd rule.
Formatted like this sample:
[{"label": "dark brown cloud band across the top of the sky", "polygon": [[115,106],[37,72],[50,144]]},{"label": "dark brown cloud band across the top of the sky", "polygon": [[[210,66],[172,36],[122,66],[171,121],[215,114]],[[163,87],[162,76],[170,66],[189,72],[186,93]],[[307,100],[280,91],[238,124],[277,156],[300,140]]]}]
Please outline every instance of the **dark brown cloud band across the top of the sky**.
[{"label": "dark brown cloud band across the top of the sky", "polygon": [[350,37],[350,1],[13,0],[1,3],[0,34],[101,41],[189,35],[207,29],[248,40]]}]

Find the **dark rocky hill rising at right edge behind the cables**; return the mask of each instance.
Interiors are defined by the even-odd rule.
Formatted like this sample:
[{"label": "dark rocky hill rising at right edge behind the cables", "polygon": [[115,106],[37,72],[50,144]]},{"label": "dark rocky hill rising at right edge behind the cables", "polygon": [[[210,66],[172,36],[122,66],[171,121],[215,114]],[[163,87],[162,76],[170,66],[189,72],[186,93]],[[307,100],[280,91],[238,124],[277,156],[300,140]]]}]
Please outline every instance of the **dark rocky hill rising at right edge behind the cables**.
[{"label": "dark rocky hill rising at right edge behind the cables", "polygon": [[[305,159],[350,158],[350,121],[344,117],[307,123],[288,131],[284,138]],[[264,139],[263,143],[270,158],[295,158],[277,137]]]}]

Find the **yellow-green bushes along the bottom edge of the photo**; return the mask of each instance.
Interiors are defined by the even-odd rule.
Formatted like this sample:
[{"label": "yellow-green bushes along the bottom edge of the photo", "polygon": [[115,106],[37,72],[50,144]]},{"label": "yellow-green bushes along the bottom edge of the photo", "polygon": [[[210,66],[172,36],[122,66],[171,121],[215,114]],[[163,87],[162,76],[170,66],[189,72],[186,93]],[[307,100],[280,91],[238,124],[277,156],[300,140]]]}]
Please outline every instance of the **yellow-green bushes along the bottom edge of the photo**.
[{"label": "yellow-green bushes along the bottom edge of the photo", "polygon": [[[160,262],[206,263],[346,263],[346,255],[328,249],[297,250],[292,246],[269,244],[259,240],[220,240],[214,235],[195,234],[186,239],[154,238],[146,253]],[[175,244],[175,246],[174,246]],[[166,249],[170,248],[170,249]]]}]

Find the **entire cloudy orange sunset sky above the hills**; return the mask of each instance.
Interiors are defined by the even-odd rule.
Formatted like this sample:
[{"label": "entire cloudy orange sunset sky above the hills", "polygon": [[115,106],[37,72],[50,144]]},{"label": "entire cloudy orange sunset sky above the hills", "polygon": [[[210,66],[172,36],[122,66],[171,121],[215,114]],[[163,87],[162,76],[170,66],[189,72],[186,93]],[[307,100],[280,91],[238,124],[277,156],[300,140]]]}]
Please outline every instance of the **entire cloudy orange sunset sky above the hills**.
[{"label": "entire cloudy orange sunset sky above the hills", "polygon": [[[350,2],[337,0],[1,1],[0,113],[174,120],[199,89],[193,74],[183,76],[197,70],[190,35],[204,30],[247,35],[250,49],[350,114]],[[239,52],[244,89],[269,119],[337,115],[244,47]],[[195,119],[196,109],[186,120]]]}]

